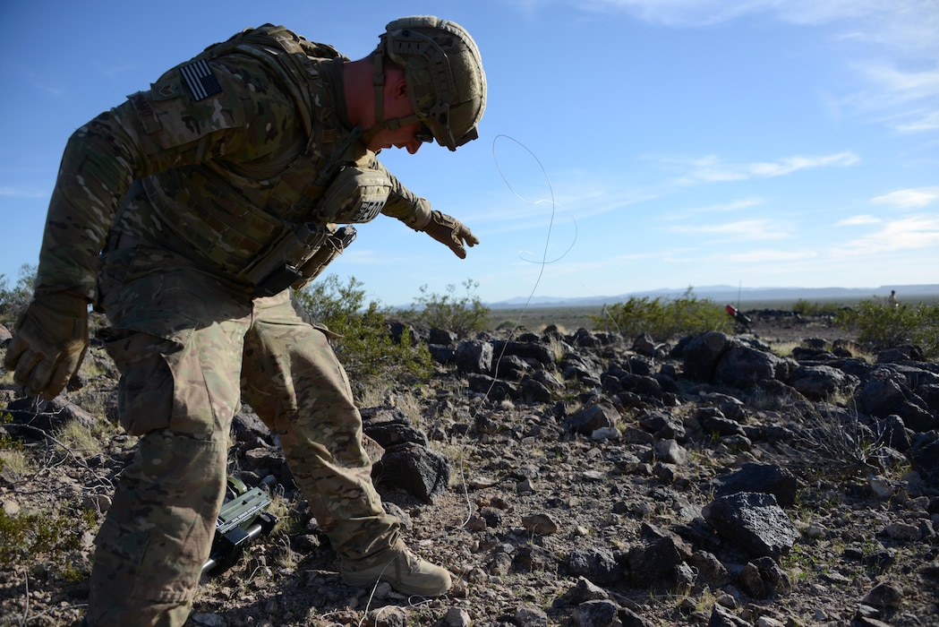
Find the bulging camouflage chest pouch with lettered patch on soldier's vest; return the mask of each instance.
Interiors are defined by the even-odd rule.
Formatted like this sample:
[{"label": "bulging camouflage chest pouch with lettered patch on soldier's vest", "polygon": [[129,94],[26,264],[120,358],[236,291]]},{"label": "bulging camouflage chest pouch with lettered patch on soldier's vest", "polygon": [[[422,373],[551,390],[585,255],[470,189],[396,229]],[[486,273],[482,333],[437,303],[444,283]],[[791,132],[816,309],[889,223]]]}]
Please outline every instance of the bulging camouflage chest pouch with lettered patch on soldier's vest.
[{"label": "bulging camouflage chest pouch with lettered patch on soldier's vest", "polygon": [[388,202],[392,181],[380,170],[346,165],[316,204],[314,215],[323,222],[371,222]]}]

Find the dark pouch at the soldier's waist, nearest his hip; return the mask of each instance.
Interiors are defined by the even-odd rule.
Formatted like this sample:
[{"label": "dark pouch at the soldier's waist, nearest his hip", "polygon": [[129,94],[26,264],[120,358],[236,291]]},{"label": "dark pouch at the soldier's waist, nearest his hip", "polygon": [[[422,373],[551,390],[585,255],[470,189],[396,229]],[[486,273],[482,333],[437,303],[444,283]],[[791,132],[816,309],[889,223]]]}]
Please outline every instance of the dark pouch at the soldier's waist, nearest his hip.
[{"label": "dark pouch at the soldier's waist, nearest his hip", "polygon": [[300,268],[335,231],[334,225],[307,222],[286,230],[239,275],[254,284],[254,298],[273,296],[302,280]]}]

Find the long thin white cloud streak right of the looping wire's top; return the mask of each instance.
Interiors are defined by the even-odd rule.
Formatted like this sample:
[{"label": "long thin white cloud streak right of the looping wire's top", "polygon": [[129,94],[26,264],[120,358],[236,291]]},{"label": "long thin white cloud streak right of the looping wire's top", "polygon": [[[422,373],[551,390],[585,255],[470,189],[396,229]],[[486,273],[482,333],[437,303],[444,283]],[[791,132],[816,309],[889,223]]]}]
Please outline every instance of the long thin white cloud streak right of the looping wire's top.
[{"label": "long thin white cloud streak right of the looping wire's top", "polygon": [[716,155],[691,160],[664,160],[667,165],[677,165],[686,172],[674,182],[679,185],[781,177],[799,170],[815,167],[847,167],[860,162],[854,152],[844,151],[818,157],[785,157],[777,162],[753,162],[730,164]]}]

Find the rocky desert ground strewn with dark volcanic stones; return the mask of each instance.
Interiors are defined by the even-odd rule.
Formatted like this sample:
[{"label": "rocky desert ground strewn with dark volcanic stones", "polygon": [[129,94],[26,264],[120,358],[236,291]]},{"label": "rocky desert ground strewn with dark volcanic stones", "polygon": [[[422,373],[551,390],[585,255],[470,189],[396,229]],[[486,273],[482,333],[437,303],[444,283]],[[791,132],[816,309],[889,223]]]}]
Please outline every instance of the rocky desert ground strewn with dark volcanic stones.
[{"label": "rocky desert ground strewn with dark volcanic stones", "polygon": [[[204,582],[187,625],[939,624],[935,365],[894,359],[908,385],[885,412],[878,357],[852,337],[825,319],[752,319],[684,351],[560,330],[438,334],[432,381],[366,395],[379,492],[415,551],[454,574],[438,599],[343,585],[245,407],[232,469],[277,480],[282,522]],[[738,361],[714,357],[704,376],[716,344]],[[115,371],[95,348],[80,386],[43,405],[0,376],[0,625],[76,624],[134,449],[113,426]]]}]

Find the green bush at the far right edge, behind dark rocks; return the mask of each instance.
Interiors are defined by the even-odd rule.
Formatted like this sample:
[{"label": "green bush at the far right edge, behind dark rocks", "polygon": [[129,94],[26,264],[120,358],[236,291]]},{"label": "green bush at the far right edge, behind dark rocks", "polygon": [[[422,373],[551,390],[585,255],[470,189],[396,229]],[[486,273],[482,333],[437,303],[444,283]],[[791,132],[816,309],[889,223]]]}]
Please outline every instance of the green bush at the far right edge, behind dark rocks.
[{"label": "green bush at the far right edge, behind dark rocks", "polygon": [[927,357],[939,356],[939,305],[890,305],[874,297],[839,311],[835,324],[874,351],[914,344]]}]

